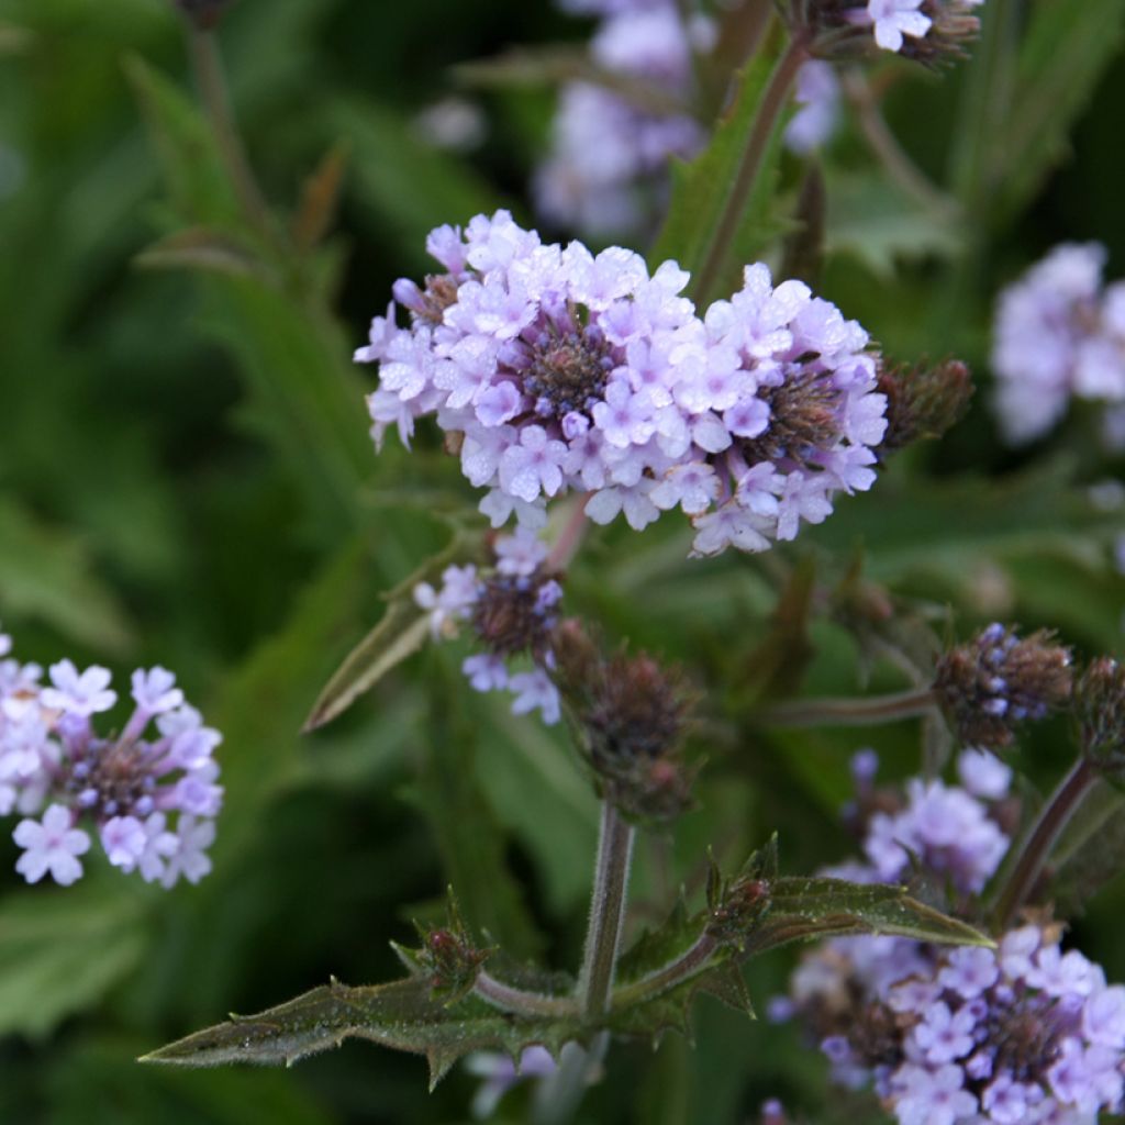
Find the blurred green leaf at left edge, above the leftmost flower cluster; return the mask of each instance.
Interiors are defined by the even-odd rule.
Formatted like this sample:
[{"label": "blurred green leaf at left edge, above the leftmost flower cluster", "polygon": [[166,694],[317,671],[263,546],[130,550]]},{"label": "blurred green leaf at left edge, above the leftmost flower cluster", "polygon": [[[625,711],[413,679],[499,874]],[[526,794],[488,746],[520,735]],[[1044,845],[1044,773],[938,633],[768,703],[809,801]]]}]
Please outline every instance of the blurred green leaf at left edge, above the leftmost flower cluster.
[{"label": "blurred green leaf at left edge, above the leftmost flower cluster", "polygon": [[104,651],[122,651],[132,640],[86,543],[45,526],[7,496],[0,496],[0,611],[42,618]]}]

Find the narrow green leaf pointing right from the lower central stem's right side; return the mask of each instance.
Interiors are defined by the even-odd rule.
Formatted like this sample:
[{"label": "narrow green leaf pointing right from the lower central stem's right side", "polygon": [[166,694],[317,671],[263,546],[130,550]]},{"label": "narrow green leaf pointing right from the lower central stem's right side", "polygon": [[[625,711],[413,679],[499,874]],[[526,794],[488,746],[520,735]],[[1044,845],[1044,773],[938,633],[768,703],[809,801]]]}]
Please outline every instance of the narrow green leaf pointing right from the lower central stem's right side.
[{"label": "narrow green leaf pointing right from the lower central stem's right side", "polygon": [[991,946],[966,922],[910,898],[906,888],[849,883],[843,879],[782,878],[771,888],[771,907],[747,935],[747,955],[778,945],[843,934],[892,934],[916,942]]}]

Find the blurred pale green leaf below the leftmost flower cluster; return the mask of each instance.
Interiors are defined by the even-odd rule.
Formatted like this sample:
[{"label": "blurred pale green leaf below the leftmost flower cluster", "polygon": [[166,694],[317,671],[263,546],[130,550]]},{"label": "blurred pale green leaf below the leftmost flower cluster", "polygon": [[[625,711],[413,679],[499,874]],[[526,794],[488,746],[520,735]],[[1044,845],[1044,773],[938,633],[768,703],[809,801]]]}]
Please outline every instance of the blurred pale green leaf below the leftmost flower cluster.
[{"label": "blurred pale green leaf below the leftmost flower cluster", "polygon": [[144,899],[122,881],[25,890],[0,904],[0,1034],[46,1035],[141,962]]}]

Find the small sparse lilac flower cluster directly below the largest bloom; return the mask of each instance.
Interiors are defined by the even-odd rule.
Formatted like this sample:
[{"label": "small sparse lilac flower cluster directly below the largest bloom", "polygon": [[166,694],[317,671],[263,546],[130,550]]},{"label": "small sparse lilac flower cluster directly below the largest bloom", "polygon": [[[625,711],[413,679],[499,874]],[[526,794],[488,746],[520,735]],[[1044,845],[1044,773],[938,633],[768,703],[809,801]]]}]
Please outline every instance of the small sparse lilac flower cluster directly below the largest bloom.
[{"label": "small sparse lilac flower cluster directly below the largest bloom", "polygon": [[434,638],[452,637],[468,622],[484,652],[465,658],[461,670],[478,692],[508,691],[512,711],[539,711],[547,723],[559,721],[551,631],[562,587],[547,567],[547,548],[526,529],[501,536],[495,567],[450,566],[435,590],[420,583],[414,600],[430,614]]}]

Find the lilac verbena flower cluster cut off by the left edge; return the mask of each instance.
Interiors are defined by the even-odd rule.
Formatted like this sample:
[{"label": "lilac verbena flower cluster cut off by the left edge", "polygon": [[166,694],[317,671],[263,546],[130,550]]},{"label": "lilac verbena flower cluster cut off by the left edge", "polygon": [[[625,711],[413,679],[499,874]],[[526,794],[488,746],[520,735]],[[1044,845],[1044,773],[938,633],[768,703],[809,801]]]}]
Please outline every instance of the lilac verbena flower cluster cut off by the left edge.
[{"label": "lilac verbena flower cluster cut off by the left edge", "polygon": [[[0,634],[0,657],[10,648]],[[12,834],[16,870],[29,883],[50,874],[70,885],[82,876],[89,828],[122,871],[163,886],[198,882],[223,802],[212,756],[219,734],[161,667],[133,673],[133,713],[108,737],[92,721],[117,702],[106,668],[61,660],[42,681],[38,665],[0,660],[0,814],[26,818]]]}]

